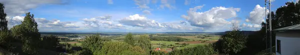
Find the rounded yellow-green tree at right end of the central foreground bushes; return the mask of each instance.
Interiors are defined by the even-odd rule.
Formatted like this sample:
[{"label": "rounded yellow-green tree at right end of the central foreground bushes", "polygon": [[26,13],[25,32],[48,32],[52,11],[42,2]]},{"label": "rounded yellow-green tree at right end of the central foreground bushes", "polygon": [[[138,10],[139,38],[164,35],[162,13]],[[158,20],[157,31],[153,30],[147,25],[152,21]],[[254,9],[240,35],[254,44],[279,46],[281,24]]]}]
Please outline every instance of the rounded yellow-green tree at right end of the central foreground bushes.
[{"label": "rounded yellow-green tree at right end of the central foreground bushes", "polygon": [[146,51],[146,54],[149,54],[148,52],[151,49],[151,42],[148,35],[140,35],[137,39],[136,45],[144,49]]}]

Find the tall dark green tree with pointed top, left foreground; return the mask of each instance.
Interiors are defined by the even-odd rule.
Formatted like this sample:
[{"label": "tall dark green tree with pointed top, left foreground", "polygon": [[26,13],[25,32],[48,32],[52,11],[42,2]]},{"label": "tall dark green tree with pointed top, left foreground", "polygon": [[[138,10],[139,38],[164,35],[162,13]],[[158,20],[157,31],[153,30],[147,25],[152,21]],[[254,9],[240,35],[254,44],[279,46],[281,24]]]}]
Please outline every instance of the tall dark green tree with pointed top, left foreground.
[{"label": "tall dark green tree with pointed top, left foreground", "polygon": [[36,54],[40,42],[40,33],[33,16],[30,12],[26,13],[22,23],[11,28],[13,36],[22,41],[23,52],[28,54]]}]

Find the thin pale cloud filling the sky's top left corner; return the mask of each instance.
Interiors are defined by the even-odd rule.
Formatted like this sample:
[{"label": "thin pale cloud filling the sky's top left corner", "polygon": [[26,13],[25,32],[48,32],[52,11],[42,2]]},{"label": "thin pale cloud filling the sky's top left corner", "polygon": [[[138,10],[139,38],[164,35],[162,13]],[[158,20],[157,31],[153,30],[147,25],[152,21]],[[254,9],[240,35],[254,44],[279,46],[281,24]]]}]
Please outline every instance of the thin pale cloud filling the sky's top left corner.
[{"label": "thin pale cloud filling the sky's top left corner", "polygon": [[63,4],[62,0],[0,0],[8,16],[16,16],[28,12],[42,4]]}]

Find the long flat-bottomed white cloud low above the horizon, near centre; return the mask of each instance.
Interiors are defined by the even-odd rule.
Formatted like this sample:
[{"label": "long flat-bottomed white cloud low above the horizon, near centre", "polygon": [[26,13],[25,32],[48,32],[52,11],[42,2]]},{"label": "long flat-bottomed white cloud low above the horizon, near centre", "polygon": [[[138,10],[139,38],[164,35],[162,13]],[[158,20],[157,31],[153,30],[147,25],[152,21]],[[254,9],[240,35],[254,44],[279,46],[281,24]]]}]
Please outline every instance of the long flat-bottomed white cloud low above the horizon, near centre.
[{"label": "long flat-bottomed white cloud low above the horizon, near centre", "polygon": [[[182,30],[202,30],[199,27],[181,24],[184,21],[176,22],[158,22],[152,19],[148,19],[146,16],[139,14],[129,15],[118,21],[124,25],[142,27],[143,29],[153,29],[153,30],[168,30],[168,31],[182,31]],[[179,23],[178,23],[179,22]],[[186,22],[184,22],[186,23]]]}]

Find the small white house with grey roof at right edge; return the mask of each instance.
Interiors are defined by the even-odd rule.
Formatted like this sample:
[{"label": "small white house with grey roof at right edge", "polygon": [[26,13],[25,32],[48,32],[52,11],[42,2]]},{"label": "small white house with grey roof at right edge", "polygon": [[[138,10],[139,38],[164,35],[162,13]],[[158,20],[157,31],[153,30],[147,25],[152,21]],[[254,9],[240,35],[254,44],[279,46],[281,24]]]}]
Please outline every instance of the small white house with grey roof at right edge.
[{"label": "small white house with grey roof at right edge", "polygon": [[274,31],[276,31],[276,55],[300,55],[300,24]]}]

